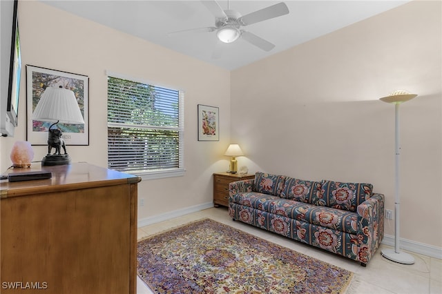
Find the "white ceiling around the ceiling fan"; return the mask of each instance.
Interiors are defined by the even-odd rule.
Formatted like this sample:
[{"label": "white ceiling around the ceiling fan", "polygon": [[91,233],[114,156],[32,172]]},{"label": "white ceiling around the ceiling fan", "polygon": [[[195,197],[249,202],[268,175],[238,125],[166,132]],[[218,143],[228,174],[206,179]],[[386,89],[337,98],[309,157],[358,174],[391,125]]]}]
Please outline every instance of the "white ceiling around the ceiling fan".
[{"label": "white ceiling around the ceiling fan", "polygon": [[[216,32],[168,35],[169,32],[178,30],[214,26],[215,17],[201,1],[41,1],[184,55],[233,70],[410,0],[285,0],[289,14],[243,27],[244,30],[275,44],[276,47],[270,52],[242,39],[229,44],[218,42]],[[231,10],[242,15],[278,2],[280,1],[218,1],[222,9],[227,10],[230,5]],[[214,59],[212,55],[216,46],[222,46],[222,55]]]}]

